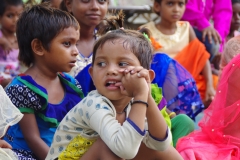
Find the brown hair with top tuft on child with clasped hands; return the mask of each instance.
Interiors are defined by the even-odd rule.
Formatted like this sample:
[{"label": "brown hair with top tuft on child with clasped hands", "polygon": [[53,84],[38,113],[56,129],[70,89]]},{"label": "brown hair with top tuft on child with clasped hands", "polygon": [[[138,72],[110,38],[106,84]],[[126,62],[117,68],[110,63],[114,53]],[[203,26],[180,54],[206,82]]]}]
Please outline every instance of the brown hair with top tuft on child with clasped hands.
[{"label": "brown hair with top tuft on child with clasped hands", "polygon": [[123,42],[123,47],[131,50],[131,52],[136,55],[141,66],[149,69],[153,53],[149,39],[147,39],[141,32],[121,29],[123,27],[123,18],[123,13],[120,12],[115,18],[112,16],[110,19],[105,19],[105,22],[102,22],[104,24],[100,24],[101,30],[99,30],[100,33],[98,32],[98,34],[103,36],[99,38],[94,45],[92,65],[94,64],[96,52],[99,48],[101,48],[106,42],[114,43],[121,40]]}]

